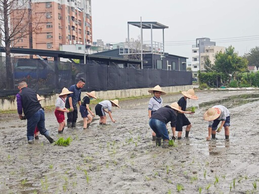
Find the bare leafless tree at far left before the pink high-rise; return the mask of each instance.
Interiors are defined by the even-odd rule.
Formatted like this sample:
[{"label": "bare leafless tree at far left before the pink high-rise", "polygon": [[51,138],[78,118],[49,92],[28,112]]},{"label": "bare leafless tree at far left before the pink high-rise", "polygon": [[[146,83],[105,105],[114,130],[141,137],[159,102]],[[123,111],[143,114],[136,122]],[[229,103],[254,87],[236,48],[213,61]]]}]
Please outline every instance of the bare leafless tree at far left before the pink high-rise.
[{"label": "bare leafless tree at far left before the pink high-rise", "polygon": [[[32,43],[32,33],[40,31],[44,24],[41,23],[44,12],[32,14],[33,8],[31,5],[31,0],[0,0],[0,39],[4,42],[2,46],[4,46],[6,52],[7,89],[14,87],[11,46],[14,46],[15,42],[27,35],[29,36],[29,42]],[[32,47],[32,44],[29,47]]]}]

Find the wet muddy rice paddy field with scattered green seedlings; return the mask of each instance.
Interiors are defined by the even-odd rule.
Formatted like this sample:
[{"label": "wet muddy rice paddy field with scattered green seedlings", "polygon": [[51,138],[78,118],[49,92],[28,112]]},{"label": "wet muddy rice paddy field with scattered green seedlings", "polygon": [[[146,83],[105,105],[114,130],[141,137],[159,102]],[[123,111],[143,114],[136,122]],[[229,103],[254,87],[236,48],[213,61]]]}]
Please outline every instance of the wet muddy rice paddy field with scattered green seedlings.
[{"label": "wet muddy rice paddy field with scattered green seedlings", "polygon": [[[54,146],[42,135],[29,145],[26,121],[1,114],[0,193],[259,193],[259,91],[196,94],[199,100],[187,101],[187,107],[197,107],[187,115],[190,138],[176,140],[169,149],[151,140],[149,99],[119,103],[121,109],[112,112],[116,123],[108,118],[108,125],[100,126],[97,116],[83,130],[79,118],[77,128],[63,134],[54,113],[46,112],[53,138],[72,138],[67,147]],[[181,96],[165,95],[163,105]],[[216,140],[206,141],[202,117],[218,104],[230,110],[230,140],[222,130]]]}]

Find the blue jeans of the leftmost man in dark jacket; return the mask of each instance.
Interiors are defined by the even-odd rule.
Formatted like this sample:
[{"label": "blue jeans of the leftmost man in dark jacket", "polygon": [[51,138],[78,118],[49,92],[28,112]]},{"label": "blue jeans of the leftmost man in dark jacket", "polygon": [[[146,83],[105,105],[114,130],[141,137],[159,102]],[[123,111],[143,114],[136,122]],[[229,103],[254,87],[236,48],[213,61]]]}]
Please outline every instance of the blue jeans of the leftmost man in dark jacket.
[{"label": "blue jeans of the leftmost man in dark jacket", "polygon": [[33,140],[34,130],[38,127],[41,135],[49,136],[50,132],[45,128],[45,113],[43,109],[39,109],[30,118],[27,118],[27,139]]}]

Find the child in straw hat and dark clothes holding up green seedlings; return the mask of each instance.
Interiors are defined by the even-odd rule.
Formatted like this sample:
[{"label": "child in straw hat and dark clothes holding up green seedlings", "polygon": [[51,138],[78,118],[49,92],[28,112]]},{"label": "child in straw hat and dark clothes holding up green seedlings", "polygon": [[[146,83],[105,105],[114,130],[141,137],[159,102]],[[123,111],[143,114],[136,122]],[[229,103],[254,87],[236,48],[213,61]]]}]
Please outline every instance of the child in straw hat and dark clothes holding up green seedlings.
[{"label": "child in straw hat and dark clothes holding up green seedlings", "polygon": [[176,131],[178,131],[178,139],[182,139],[183,126],[186,126],[185,137],[189,137],[189,132],[192,126],[189,119],[185,116],[185,114],[193,114],[191,111],[186,111],[187,99],[198,100],[194,89],[182,91],[182,94],[184,96],[178,101],[178,105],[183,112],[182,114],[180,113],[177,115]]}]

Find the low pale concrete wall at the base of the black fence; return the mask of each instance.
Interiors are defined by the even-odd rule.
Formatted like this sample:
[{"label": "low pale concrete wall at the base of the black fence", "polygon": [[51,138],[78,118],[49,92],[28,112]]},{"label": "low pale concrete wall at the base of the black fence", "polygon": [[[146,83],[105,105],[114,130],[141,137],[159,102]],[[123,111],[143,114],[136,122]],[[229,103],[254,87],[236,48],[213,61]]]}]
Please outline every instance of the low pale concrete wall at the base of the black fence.
[{"label": "low pale concrete wall at the base of the black fence", "polygon": [[[152,87],[153,88],[153,87]],[[137,88],[137,89],[122,89],[122,90],[109,90],[109,91],[97,91],[96,96],[99,99],[103,100],[113,100],[116,98],[127,98],[132,96],[142,96],[142,95],[149,95],[149,89],[152,88]],[[179,91],[186,91],[190,88],[193,88],[193,85],[181,85],[181,86],[170,86],[170,87],[162,87],[166,93],[174,93]],[[85,96],[85,92],[81,93],[81,99]],[[41,95],[45,97],[44,100],[40,101],[42,107],[52,106],[56,104],[56,100],[58,98],[58,94],[48,94],[48,95]],[[1,98],[0,99],[0,111],[6,110],[16,110],[16,98],[12,96],[11,98]]]}]

